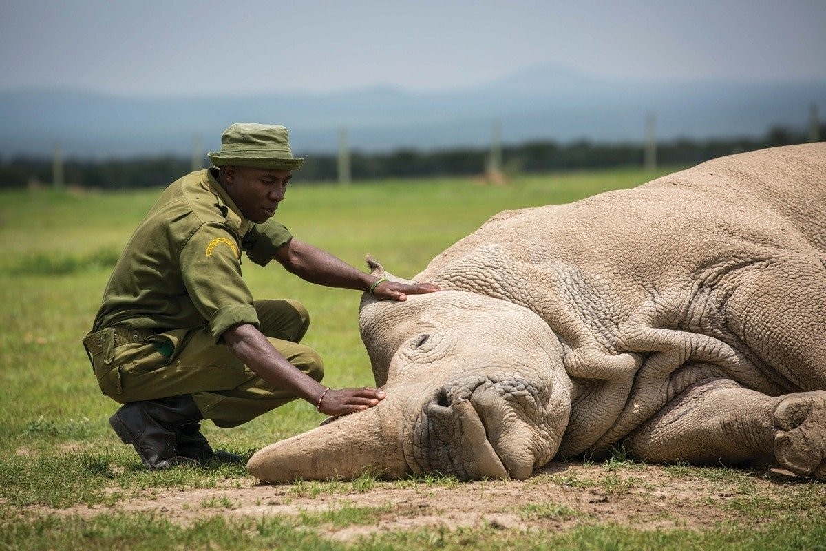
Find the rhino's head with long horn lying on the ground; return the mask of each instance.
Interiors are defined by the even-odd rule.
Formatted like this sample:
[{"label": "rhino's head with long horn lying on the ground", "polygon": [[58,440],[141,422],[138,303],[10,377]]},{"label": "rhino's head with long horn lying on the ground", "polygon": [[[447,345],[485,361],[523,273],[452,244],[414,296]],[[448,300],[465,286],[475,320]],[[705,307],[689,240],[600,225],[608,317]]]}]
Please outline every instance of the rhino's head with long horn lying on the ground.
[{"label": "rhino's head with long horn lying on the ground", "polygon": [[459,291],[406,302],[365,295],[359,314],[376,384],[387,397],[261,449],[248,463],[255,477],[526,478],[553,458],[571,382],[557,337],[539,316]]}]

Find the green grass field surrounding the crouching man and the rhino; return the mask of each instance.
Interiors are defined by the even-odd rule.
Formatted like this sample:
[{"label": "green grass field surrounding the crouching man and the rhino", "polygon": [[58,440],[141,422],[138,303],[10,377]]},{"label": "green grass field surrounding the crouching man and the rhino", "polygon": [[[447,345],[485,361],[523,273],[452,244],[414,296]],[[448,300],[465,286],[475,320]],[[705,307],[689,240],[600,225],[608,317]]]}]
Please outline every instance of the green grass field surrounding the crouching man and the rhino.
[{"label": "green grass field surrounding the crouching man and the rhino", "polygon": [[[434,179],[347,188],[302,185],[296,178],[278,218],[301,240],[350,264],[363,267],[369,253],[392,273],[412,277],[498,211],[571,202],[653,177],[627,169],[519,177],[506,186]],[[478,549],[826,549],[822,484],[787,485],[728,469],[654,469],[615,458],[591,466],[596,470],[590,475],[545,473],[520,486],[434,477],[298,482],[269,490],[256,487],[240,467],[145,471],[108,426],[116,404],[98,391],[80,340],[119,250],[158,193],[0,193],[0,549],[459,549],[468,544]],[[294,297],[308,306],[314,318],[305,342],[325,358],[327,384],[372,383],[358,338],[358,293],[312,286],[278,265],[260,268],[249,261],[244,278],[255,297]],[[213,446],[250,454],[321,419],[310,404],[293,402],[233,430],[207,422],[204,432]],[[513,488],[531,492],[530,483],[563,493],[596,488],[601,495],[631,496],[638,489],[650,496],[656,483],[649,475],[669,483],[695,480],[699,487],[734,488],[734,493],[724,506],[714,496],[700,496],[694,506],[701,509],[706,500],[719,515],[693,525],[676,522],[670,530],[605,520],[583,513],[577,501],[524,499],[510,501],[517,505],[507,514],[520,519],[513,526],[485,517],[458,526],[448,521],[393,525],[362,535],[356,530],[398,515],[392,500],[382,501],[382,492],[410,492],[411,499],[424,499],[425,507],[436,494],[471,501],[483,496],[493,503]],[[200,496],[199,501],[179,508],[187,514],[169,518],[165,506],[152,504],[171,502],[174,492]],[[271,493],[263,501],[254,494],[259,496],[253,498],[259,501],[254,512],[241,515],[251,505],[248,499],[241,507],[239,496],[249,492]],[[748,499],[749,492],[757,497]],[[314,506],[330,496],[358,499]],[[273,500],[292,503],[297,512],[268,509]],[[146,506],[130,508],[135,503]],[[355,535],[331,535],[343,530]]]}]

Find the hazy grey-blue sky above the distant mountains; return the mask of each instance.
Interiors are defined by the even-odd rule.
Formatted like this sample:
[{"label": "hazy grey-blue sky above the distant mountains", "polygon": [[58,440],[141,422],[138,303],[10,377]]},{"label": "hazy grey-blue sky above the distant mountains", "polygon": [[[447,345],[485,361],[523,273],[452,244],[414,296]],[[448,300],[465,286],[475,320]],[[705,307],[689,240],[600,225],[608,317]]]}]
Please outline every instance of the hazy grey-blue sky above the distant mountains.
[{"label": "hazy grey-blue sky above the distant mountains", "polygon": [[826,80],[824,0],[0,0],[0,91],[471,88],[534,65]]}]

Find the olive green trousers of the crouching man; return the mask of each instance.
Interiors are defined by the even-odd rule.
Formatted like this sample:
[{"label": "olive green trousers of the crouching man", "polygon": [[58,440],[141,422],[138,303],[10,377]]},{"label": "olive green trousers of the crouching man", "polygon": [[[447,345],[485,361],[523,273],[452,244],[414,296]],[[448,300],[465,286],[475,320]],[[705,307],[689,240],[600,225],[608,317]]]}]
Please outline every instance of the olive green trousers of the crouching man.
[{"label": "olive green trousers of the crouching man", "polygon": [[[310,325],[300,302],[254,302],[261,332],[288,362],[320,381],[324,367],[315,350],[298,344]],[[233,427],[295,400],[265,382],[206,329],[169,330],[140,342],[112,344],[94,354],[103,394],[129,401],[192,395],[205,419]]]}]

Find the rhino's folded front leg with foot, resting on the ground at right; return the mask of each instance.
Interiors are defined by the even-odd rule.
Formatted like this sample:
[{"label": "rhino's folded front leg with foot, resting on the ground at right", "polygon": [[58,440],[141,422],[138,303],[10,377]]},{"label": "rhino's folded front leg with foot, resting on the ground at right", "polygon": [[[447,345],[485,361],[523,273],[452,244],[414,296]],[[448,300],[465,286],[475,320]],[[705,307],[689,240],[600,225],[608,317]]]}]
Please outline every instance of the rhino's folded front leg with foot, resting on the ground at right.
[{"label": "rhino's folded front leg with foot, resting on the ground at right", "polygon": [[826,392],[769,397],[729,379],[697,382],[624,440],[634,458],[695,465],[776,461],[826,480]]}]

